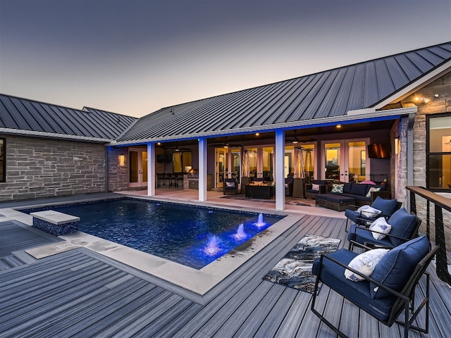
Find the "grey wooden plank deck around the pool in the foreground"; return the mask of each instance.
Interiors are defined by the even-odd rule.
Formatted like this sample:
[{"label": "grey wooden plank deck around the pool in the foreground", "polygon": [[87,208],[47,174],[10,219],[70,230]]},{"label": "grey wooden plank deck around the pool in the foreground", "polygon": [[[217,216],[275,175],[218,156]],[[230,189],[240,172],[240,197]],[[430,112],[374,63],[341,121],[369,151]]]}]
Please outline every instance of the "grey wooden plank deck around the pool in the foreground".
[{"label": "grey wooden plank deck around the pool in the foreground", "polygon": [[[311,313],[311,294],[262,277],[304,234],[340,238],[340,247],[347,247],[342,218],[306,215],[302,225],[230,275],[230,286],[204,306],[84,248],[37,261],[27,258],[23,249],[43,245],[34,242],[42,240],[42,234],[18,227],[0,223],[1,255],[16,260],[0,271],[1,337],[336,337]],[[6,248],[5,236],[11,234],[17,240]],[[411,331],[410,337],[451,337],[450,288],[435,276],[433,265],[428,271],[430,332]],[[417,294],[423,290],[421,284]],[[326,286],[319,303],[327,303],[326,317],[350,337],[403,335],[398,325],[379,325]],[[424,313],[419,320],[424,320]]]}]

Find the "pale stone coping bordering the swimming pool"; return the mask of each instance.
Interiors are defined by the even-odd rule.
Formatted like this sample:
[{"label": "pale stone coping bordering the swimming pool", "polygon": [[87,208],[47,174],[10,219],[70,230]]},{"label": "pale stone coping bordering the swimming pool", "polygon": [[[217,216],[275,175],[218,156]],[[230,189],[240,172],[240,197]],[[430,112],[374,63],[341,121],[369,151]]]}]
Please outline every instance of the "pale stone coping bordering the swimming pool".
[{"label": "pale stone coping bordering the swimming pool", "polygon": [[[187,299],[197,303],[206,303],[212,299],[216,292],[212,293],[213,289],[218,289],[226,278],[235,270],[244,265],[252,257],[257,255],[266,246],[271,244],[284,232],[288,231],[290,227],[297,224],[299,220],[304,217],[304,214],[290,213],[285,211],[274,211],[259,208],[245,208],[235,206],[221,206],[209,202],[201,201],[172,201],[168,199],[158,199],[152,197],[134,197],[127,196],[128,199],[140,199],[149,201],[167,201],[175,204],[188,204],[193,206],[207,206],[212,208],[222,208],[226,210],[250,211],[253,213],[271,213],[273,215],[283,215],[283,219],[268,227],[263,232],[260,232],[252,239],[249,239],[245,244],[238,246],[233,251],[226,253],[226,255],[218,258],[216,261],[209,263],[204,268],[197,270],[187,267],[180,263],[168,261],[164,258],[154,256],[149,253],[144,253],[137,249],[132,249],[128,246],[123,246],[106,239],[86,234],[85,232],[75,232],[73,234],[61,235],[58,238],[64,239],[66,242],[50,244],[46,246],[39,246],[37,248],[26,250],[31,256],[35,258],[44,258],[54,255],[59,252],[68,251],[80,247],[85,247],[91,251],[99,253],[103,256],[118,261],[125,265],[140,270],[152,276],[151,281],[165,289],[180,294]],[[94,199],[94,201],[98,201]],[[85,202],[85,201],[82,201]],[[75,204],[77,201],[70,201],[70,204]],[[61,204],[61,203],[58,203]],[[55,203],[45,204],[44,206],[55,206]],[[36,208],[43,206],[27,206],[26,208]],[[11,208],[14,212],[6,215],[27,225],[32,225],[32,217],[30,215],[20,212],[24,207]],[[8,213],[8,212],[7,212]],[[222,288],[221,288],[222,289]],[[218,291],[217,291],[218,292]]]}]

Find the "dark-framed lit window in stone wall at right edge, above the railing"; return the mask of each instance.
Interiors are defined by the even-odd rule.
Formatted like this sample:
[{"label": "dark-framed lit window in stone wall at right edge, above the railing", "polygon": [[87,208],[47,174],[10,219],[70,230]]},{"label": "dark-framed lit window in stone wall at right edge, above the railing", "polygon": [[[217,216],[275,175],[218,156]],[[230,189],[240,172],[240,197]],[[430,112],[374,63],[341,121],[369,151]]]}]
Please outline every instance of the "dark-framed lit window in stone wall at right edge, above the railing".
[{"label": "dark-framed lit window in stone wall at right edge, above the railing", "polygon": [[427,132],[427,187],[451,189],[451,114],[428,116]]}]

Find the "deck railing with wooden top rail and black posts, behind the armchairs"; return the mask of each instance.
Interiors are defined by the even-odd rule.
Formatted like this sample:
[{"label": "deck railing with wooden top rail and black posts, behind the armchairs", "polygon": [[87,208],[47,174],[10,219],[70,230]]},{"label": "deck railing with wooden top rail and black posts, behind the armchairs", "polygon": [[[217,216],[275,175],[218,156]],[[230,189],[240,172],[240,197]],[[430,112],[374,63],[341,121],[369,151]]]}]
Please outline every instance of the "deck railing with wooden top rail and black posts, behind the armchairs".
[{"label": "deck railing with wooden top rail and black posts, behind the armchairs", "polygon": [[410,192],[410,211],[423,220],[428,239],[433,241],[435,238],[435,245],[439,248],[435,256],[437,276],[451,285],[451,275],[447,267],[447,252],[451,251],[451,199],[422,187],[409,186],[406,189]]}]

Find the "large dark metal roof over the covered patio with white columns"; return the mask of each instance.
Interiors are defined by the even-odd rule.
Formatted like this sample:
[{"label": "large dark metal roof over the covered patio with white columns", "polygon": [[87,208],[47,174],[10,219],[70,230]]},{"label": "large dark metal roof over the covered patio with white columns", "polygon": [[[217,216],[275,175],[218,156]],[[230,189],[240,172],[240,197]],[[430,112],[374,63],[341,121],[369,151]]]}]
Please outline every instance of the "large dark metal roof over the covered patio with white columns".
[{"label": "large dark metal roof over the covered patio with white columns", "polygon": [[[141,118],[118,142],[182,139],[271,130],[301,121],[338,120],[377,107],[451,62],[451,42],[291,80],[162,108]],[[449,66],[447,66],[449,70]]]}]

